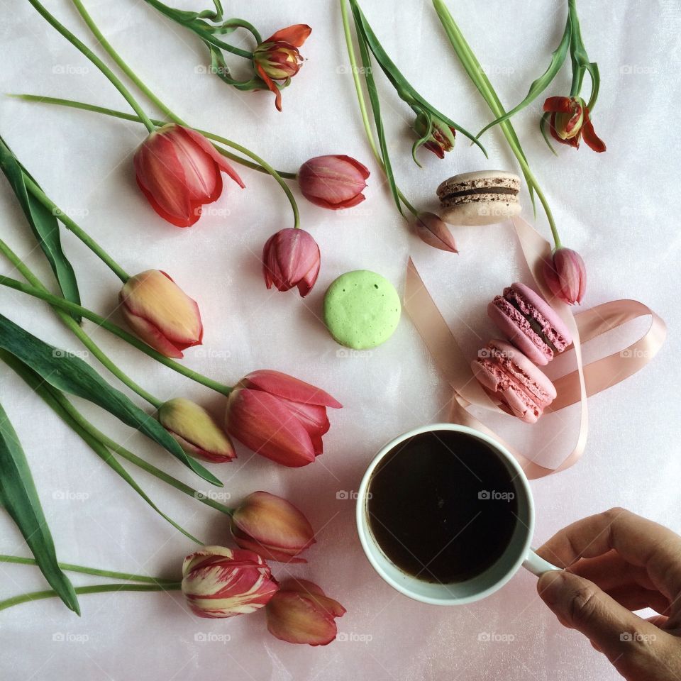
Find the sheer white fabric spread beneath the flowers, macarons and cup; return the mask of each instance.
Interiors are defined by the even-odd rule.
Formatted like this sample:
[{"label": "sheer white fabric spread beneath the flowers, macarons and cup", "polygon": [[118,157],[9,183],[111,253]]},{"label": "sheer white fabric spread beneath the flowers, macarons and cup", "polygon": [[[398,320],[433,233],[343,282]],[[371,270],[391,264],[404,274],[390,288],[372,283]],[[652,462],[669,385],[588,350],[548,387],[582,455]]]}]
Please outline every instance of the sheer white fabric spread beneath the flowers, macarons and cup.
[{"label": "sheer white fabric spread beneath the flowers, macarons and cup", "polygon": [[[92,44],[66,0],[46,4]],[[209,3],[182,4],[187,9],[203,5]],[[313,27],[301,50],[308,60],[284,92],[283,114],[277,113],[269,94],[241,94],[197,74],[196,67],[206,64],[201,45],[143,2],[87,2],[121,54],[194,125],[250,146],[282,170],[294,170],[324,153],[353,155],[370,167],[367,201],[356,209],[334,214],[300,199],[302,225],[319,241],[323,254],[319,282],[305,301],[294,292],[267,292],[262,282],[262,244],[291,224],[286,199],[267,177],[244,169],[248,188],[240,191],[229,183],[215,204],[228,216],[204,216],[194,228],[180,230],[158,218],[135,186],[132,155],[144,136],[138,124],[3,98],[0,133],[57,204],[128,272],[167,270],[198,299],[206,333],[202,348],[187,352],[187,365],[225,382],[256,368],[283,370],[318,384],[345,404],[331,412],[326,452],[314,465],[287,470],[240,450],[236,462],[214,470],[234,502],[254,489],[267,489],[292,499],[309,516],[318,543],[308,553],[309,565],[292,572],[319,582],[347,607],[338,629],[350,640],[326,648],[291,646],[269,636],[263,613],[206,621],[187,614],[178,594],[103,594],[82,597],[80,619],[58,602],[3,612],[1,675],[16,680],[74,674],[116,680],[207,675],[257,681],[618,678],[588,641],[558,624],[536,596],[536,578],[527,572],[485,602],[445,609],[392,591],[365,560],[355,536],[354,504],[337,494],[357,488],[365,465],[384,441],[442,419],[448,391],[406,316],[394,337],[372,353],[339,356],[320,321],[326,286],[342,272],[367,268],[402,289],[406,258],[414,255],[443,314],[472,352],[493,333],[485,317],[487,301],[525,272],[509,226],[457,231],[458,256],[428,249],[410,236],[370,157],[336,1],[229,5],[230,13],[248,18],[263,35],[292,23]],[[387,0],[363,5],[387,52],[433,104],[472,131],[489,120],[430,3],[404,2],[399,9]],[[5,1],[0,9],[1,92],[50,94],[127,110],[106,79],[28,3]],[[546,67],[565,21],[565,3],[553,0],[489,0],[484,9],[462,0],[452,10],[506,104],[521,99]],[[668,322],[670,338],[643,372],[589,400],[589,441],[580,463],[532,483],[536,543],[610,506],[626,506],[681,531],[681,370],[674,359],[681,350],[681,242],[672,208],[680,174],[675,140],[681,7],[677,0],[583,0],[580,15],[589,54],[602,73],[594,125],[607,153],[596,155],[582,145],[579,152],[560,148],[559,157],[553,157],[538,132],[539,101],[514,123],[550,197],[565,244],[587,262],[585,307],[615,298],[639,299]],[[455,172],[515,167],[502,135],[494,131],[485,136],[489,161],[462,138],[443,161],[421,153],[424,169],[419,170],[409,158],[410,112],[384,78],[378,80],[397,177],[419,206],[435,208],[437,184]],[[567,94],[569,83],[566,68],[547,94]],[[528,204],[526,194],[524,201]],[[529,206],[524,207],[524,216],[531,219]],[[2,238],[47,277],[4,181],[0,214]],[[537,225],[548,236],[541,216]],[[116,304],[116,277],[70,234],[63,241],[77,267],[85,304],[109,311]],[[11,269],[5,264],[1,271]],[[82,349],[43,304],[7,290],[0,296],[3,314],[56,345]],[[629,338],[635,331],[629,329]],[[192,397],[221,414],[223,400],[216,394],[104,332],[94,336],[155,394]],[[192,544],[145,506],[18,377],[6,367],[0,367],[0,377],[2,403],[31,461],[60,558],[177,575]],[[197,484],[144,438],[131,436],[98,409],[82,402],[78,406],[136,452]],[[547,417],[534,430],[511,419],[498,425],[504,436],[534,453],[555,433],[555,440],[569,448],[573,416]],[[551,455],[560,458],[561,453]],[[214,543],[228,541],[226,517],[131,470],[162,509],[192,532]],[[4,514],[0,526],[1,552],[28,555]],[[275,572],[284,576],[287,570],[277,565]],[[38,570],[31,567],[4,565],[0,573],[1,597],[44,588]],[[97,581],[74,576],[78,584]],[[196,640],[208,633],[223,641]],[[514,640],[485,643],[478,640],[480,633]],[[357,638],[362,642],[353,640]]]}]

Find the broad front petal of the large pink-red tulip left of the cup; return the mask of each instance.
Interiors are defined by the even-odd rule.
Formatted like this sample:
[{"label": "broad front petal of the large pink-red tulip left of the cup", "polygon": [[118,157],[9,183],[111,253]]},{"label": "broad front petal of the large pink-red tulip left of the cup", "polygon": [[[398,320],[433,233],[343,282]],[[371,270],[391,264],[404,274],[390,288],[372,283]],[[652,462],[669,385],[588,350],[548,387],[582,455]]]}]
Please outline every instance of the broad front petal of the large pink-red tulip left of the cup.
[{"label": "broad front petal of the large pink-red tulip left of the cup", "polygon": [[306,429],[282,401],[261,390],[237,389],[229,397],[227,430],[255,453],[289,467],[314,461]]}]

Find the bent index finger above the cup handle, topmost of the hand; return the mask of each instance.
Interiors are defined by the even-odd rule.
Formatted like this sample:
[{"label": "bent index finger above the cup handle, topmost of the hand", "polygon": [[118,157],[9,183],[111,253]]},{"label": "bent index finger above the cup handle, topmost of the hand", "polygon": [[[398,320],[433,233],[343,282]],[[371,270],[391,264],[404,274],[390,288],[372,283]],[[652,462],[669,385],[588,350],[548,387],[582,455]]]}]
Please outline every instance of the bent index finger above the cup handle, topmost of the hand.
[{"label": "bent index finger above the cup handle, topmost of the hand", "polygon": [[610,509],[555,533],[537,553],[559,567],[616,550],[631,565],[645,567],[661,593],[681,593],[681,537],[626,509]]}]

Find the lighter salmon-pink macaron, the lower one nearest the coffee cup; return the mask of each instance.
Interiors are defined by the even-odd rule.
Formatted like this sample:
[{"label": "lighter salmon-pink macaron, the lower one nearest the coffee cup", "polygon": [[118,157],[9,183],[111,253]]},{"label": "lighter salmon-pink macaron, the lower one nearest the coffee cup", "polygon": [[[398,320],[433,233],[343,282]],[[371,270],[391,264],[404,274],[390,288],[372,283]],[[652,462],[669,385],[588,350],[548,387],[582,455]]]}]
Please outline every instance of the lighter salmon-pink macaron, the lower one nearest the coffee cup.
[{"label": "lighter salmon-pink macaron, the lower one nearest the coffee cup", "polygon": [[555,386],[544,372],[504,341],[489,341],[470,367],[487,394],[525,423],[536,423],[555,399]]}]

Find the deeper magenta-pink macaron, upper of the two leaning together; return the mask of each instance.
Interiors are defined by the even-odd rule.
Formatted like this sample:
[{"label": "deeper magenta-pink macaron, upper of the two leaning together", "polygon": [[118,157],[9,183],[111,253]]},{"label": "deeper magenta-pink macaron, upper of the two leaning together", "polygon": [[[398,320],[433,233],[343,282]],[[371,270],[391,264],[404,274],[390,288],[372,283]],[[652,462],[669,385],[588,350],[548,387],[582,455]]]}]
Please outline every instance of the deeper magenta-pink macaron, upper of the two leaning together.
[{"label": "deeper magenta-pink macaron, upper of the two leaning together", "polygon": [[572,345],[558,313],[525,284],[516,282],[487,306],[489,318],[536,365],[543,366]]}]

